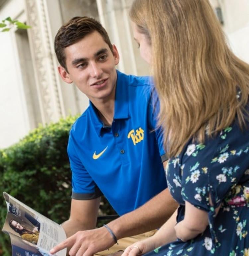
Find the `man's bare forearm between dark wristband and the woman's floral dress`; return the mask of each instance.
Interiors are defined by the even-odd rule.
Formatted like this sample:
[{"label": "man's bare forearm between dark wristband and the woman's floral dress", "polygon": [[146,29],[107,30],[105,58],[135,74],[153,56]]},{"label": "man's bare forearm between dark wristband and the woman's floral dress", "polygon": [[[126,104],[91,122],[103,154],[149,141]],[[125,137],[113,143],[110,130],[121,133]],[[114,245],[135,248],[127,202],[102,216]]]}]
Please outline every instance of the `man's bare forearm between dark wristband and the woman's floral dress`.
[{"label": "man's bare forearm between dark wristband and the woman's floral dress", "polygon": [[178,204],[168,189],[154,196],[138,209],[110,222],[108,226],[118,239],[160,228],[174,213]]}]

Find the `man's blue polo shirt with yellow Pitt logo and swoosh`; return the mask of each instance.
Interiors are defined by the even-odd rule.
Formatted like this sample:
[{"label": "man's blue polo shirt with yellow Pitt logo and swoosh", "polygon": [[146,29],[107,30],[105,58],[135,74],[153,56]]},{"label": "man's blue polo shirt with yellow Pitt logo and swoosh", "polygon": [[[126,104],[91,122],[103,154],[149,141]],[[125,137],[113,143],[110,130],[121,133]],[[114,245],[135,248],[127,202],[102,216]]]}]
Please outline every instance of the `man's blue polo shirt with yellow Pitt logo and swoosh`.
[{"label": "man's blue polo shirt with yellow Pitt logo and swoosh", "polygon": [[112,126],[103,125],[90,102],[69,136],[73,199],[93,199],[103,193],[122,215],[167,187],[156,103],[150,77],[119,71]]}]

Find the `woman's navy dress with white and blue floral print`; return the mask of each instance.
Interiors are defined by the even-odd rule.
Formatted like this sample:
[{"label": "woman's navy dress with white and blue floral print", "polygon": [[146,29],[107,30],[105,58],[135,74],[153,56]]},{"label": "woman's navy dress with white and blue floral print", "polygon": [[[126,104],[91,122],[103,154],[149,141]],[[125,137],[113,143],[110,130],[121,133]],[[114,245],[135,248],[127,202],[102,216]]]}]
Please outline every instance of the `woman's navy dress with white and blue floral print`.
[{"label": "woman's navy dress with white and blue floral print", "polygon": [[165,172],[169,190],[180,204],[177,222],[183,220],[188,201],[208,212],[209,225],[192,240],[178,239],[146,255],[249,256],[249,128],[242,132],[234,124],[205,144],[191,140],[169,160]]}]

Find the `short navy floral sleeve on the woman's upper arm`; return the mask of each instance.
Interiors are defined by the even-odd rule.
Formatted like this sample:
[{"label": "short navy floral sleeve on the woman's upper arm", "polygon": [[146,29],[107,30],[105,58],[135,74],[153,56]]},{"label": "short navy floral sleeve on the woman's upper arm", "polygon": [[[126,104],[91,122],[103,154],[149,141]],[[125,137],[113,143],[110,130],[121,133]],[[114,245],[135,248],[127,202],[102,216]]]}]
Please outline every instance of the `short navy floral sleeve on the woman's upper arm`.
[{"label": "short navy floral sleeve on the woman's upper arm", "polygon": [[182,156],[182,197],[209,211],[235,187],[249,166],[249,131],[235,124],[205,144],[189,143]]}]

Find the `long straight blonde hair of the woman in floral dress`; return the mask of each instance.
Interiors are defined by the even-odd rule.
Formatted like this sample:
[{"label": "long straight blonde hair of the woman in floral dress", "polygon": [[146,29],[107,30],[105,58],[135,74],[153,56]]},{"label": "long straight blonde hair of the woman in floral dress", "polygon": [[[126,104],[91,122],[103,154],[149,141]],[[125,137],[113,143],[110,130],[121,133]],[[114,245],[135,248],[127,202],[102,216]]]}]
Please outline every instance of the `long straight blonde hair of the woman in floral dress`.
[{"label": "long straight blonde hair of the woman in floral dress", "polygon": [[208,0],[134,0],[130,17],[152,46],[158,124],[169,157],[191,138],[203,143],[206,133],[216,135],[235,117],[245,125],[249,65],[227,46]]}]

